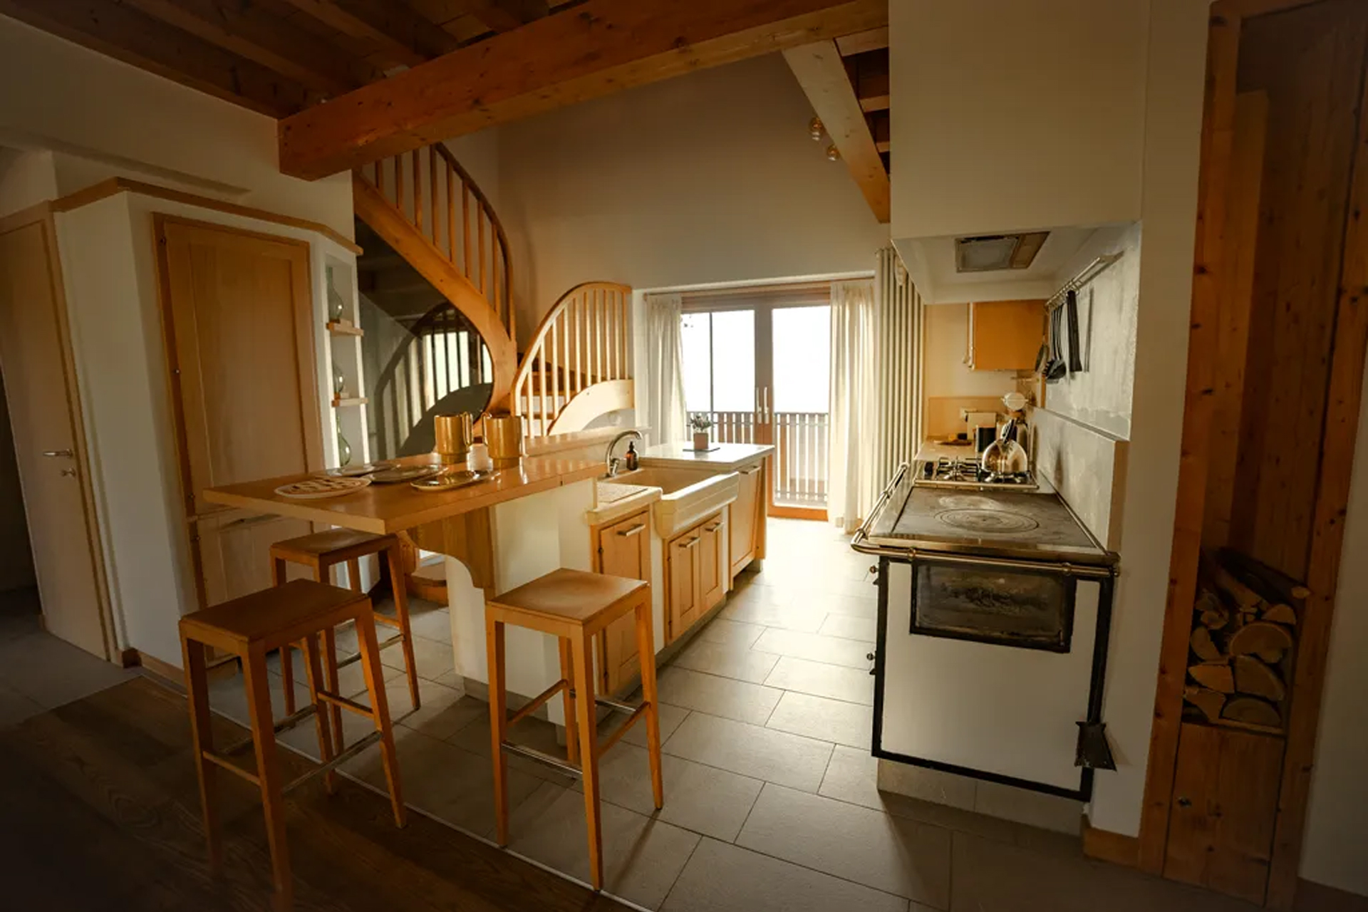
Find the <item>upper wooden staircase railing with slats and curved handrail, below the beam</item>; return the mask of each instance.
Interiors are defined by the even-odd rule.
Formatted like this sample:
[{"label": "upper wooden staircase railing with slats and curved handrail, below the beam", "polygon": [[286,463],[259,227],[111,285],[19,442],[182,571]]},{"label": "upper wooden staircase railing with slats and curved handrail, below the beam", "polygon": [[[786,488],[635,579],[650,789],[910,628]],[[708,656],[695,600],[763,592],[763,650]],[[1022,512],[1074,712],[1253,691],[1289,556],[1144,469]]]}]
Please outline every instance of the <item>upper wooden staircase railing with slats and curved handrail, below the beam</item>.
[{"label": "upper wooden staircase railing with slats and curved handrail, below the beam", "polygon": [[479,332],[494,366],[492,402],[517,372],[508,237],[488,198],[446,146],[382,159],[352,174],[356,215]]}]

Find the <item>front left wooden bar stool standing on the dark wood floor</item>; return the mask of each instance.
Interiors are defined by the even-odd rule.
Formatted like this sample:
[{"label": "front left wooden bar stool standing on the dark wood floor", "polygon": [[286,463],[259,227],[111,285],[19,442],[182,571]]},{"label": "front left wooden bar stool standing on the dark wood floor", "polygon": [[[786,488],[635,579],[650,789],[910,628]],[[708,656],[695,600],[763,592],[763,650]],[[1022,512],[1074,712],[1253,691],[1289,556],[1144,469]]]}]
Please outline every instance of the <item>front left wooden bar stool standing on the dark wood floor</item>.
[{"label": "front left wooden bar stool standing on the dark wood floor", "polygon": [[[190,733],[196,751],[196,768],[200,774],[200,803],[209,844],[209,867],[215,874],[222,867],[215,778],[218,770],[224,768],[261,789],[267,842],[271,846],[271,867],[276,902],[280,909],[291,907],[293,894],[290,853],[285,838],[283,796],[286,792],[321,774],[326,777],[327,790],[331,793],[337,781],[337,774],[332,770],[379,741],[384,777],[390,783],[394,823],[402,827],[408,819],[399,793],[399,766],[394,755],[394,734],[390,729],[390,710],[384,700],[384,675],[380,671],[380,648],[375,639],[372,614],[371,599],[365,595],[312,580],[294,580],[181,618],[181,651],[185,656],[186,685],[190,697]],[[319,658],[319,634],[347,621],[356,622],[357,636],[361,641],[361,669],[365,673],[365,686],[371,695],[369,707],[320,686],[323,669]],[[311,704],[280,723],[274,723],[265,655],[287,643],[300,641],[304,643],[308,656]],[[222,752],[213,749],[213,729],[209,718],[207,667],[211,648],[222,649],[242,660],[252,727],[252,737]],[[375,723],[375,732],[346,751],[334,752],[328,732],[328,715],[319,711],[321,703],[367,716]],[[316,719],[319,753],[323,757],[323,764],[293,782],[283,783],[280,767],[276,763],[275,734],[309,715]],[[256,773],[249,773],[230,760],[234,753],[248,747],[256,749]]]}]

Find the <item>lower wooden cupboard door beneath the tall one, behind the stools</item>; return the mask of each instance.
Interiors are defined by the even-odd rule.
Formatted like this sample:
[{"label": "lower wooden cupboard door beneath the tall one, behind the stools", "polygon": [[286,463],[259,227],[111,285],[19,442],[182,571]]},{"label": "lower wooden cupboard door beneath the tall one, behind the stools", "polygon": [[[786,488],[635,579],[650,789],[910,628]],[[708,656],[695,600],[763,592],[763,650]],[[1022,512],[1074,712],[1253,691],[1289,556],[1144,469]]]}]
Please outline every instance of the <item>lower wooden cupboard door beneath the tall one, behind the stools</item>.
[{"label": "lower wooden cupboard door beneath the tall one, behind the stools", "polygon": [[[271,546],[313,532],[306,520],[228,510],[197,520],[190,543],[200,570],[200,604],[208,607],[271,587]],[[312,572],[287,563],[289,578]]]}]

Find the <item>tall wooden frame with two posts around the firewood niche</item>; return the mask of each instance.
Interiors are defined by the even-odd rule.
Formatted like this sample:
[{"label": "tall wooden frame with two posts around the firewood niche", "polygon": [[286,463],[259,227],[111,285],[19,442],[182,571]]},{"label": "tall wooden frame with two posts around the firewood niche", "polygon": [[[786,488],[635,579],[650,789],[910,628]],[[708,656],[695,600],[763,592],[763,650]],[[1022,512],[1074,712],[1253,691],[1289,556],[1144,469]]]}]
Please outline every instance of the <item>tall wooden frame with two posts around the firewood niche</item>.
[{"label": "tall wooden frame with two posts around the firewood niche", "polygon": [[[1220,276],[1224,273],[1224,257],[1230,256],[1226,249],[1226,200],[1242,21],[1317,1],[1320,0],[1218,0],[1211,8],[1182,455],[1140,831],[1140,867],[1152,874],[1161,874],[1164,868],[1192,606],[1205,514],[1213,409],[1208,391],[1212,388],[1218,361]],[[1356,149],[1321,438],[1321,470],[1306,572],[1306,585],[1312,595],[1306,600],[1305,619],[1300,628],[1301,641],[1265,900],[1268,908],[1286,912],[1291,912],[1295,902],[1324,665],[1343,546],[1343,505],[1353,472],[1368,351],[1368,306],[1363,304],[1368,289],[1368,224],[1364,223],[1364,213],[1368,212],[1368,94],[1360,105]]]}]

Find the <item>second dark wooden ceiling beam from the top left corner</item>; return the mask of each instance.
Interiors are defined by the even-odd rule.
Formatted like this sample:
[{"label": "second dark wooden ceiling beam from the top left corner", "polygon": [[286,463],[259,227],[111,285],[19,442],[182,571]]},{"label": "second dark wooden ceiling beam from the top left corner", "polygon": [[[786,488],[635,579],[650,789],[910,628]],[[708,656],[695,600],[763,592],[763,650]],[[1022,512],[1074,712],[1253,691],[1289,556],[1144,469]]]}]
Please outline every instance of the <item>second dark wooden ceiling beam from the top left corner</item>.
[{"label": "second dark wooden ceiling beam from the top left corner", "polygon": [[241,0],[123,0],[126,5],[327,94],[380,74],[293,22]]}]

